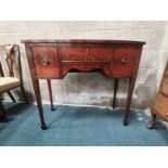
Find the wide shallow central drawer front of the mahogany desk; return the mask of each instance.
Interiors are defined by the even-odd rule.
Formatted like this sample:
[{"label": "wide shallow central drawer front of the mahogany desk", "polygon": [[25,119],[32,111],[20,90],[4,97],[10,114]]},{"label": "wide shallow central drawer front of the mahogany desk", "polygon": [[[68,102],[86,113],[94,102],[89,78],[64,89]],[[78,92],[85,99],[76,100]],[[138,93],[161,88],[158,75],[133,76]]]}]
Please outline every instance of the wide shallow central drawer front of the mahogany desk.
[{"label": "wide shallow central drawer front of the mahogany desk", "polygon": [[112,60],[112,49],[101,48],[101,47],[62,47],[62,61],[111,61]]}]

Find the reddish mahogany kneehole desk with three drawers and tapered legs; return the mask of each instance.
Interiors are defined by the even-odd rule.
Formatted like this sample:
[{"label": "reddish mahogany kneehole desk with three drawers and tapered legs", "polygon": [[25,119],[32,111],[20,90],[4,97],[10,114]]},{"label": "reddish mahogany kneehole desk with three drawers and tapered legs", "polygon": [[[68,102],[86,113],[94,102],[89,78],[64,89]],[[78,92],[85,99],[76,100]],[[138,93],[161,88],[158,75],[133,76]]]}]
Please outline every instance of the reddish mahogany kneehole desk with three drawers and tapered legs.
[{"label": "reddish mahogany kneehole desk with three drawers and tapered legs", "polygon": [[38,79],[47,79],[51,109],[53,107],[51,79],[62,79],[68,72],[88,73],[101,70],[114,79],[113,107],[119,78],[129,78],[124,125],[128,115],[139,69],[143,41],[124,40],[22,40],[25,44],[41,128],[47,129]]}]

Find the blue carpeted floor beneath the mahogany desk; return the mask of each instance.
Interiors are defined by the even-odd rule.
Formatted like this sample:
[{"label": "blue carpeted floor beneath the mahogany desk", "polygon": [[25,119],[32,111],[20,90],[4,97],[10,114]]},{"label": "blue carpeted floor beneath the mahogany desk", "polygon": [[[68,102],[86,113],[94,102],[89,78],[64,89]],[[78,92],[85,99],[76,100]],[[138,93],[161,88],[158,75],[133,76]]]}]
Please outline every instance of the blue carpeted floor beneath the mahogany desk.
[{"label": "blue carpeted floor beneath the mahogany desk", "polygon": [[150,116],[131,109],[129,126],[122,126],[124,109],[43,105],[47,130],[41,130],[37,106],[5,103],[9,121],[0,122],[1,146],[167,146],[168,128],[160,121],[146,129]]}]

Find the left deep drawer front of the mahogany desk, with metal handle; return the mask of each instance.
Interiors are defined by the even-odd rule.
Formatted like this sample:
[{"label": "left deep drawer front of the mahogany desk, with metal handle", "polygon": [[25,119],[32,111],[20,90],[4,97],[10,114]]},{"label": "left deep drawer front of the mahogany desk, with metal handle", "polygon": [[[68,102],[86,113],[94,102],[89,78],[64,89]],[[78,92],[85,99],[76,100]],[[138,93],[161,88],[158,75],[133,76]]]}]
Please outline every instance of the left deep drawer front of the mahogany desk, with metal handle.
[{"label": "left deep drawer front of the mahogany desk, with metal handle", "polygon": [[60,76],[57,49],[55,47],[31,47],[36,76],[56,78]]}]

